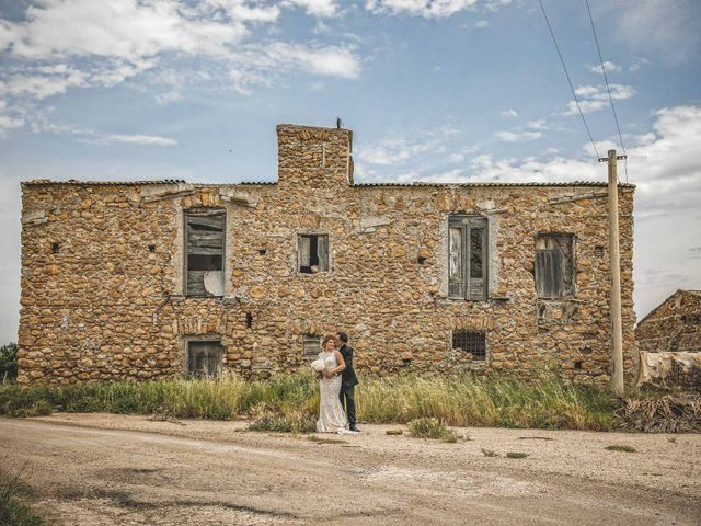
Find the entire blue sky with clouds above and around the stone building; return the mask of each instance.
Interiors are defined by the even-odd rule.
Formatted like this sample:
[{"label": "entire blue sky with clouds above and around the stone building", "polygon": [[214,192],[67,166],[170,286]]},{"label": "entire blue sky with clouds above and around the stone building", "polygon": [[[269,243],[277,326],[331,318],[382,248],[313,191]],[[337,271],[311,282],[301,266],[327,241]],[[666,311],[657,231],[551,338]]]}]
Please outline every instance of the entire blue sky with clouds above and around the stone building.
[{"label": "entire blue sky with clouds above and around the stone building", "polygon": [[[589,3],[639,185],[642,317],[701,288],[701,3]],[[543,4],[605,156],[586,3]],[[605,180],[572,103],[537,0],[0,1],[0,341],[20,181],[272,181],[275,125],[336,116],[357,181]]]}]

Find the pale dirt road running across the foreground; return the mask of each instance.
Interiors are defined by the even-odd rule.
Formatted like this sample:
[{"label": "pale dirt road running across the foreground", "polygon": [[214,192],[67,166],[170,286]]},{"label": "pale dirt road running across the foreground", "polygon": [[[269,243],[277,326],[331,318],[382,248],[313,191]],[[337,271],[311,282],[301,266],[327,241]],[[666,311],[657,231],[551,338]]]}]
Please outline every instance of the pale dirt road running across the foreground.
[{"label": "pale dirt road running across the foreground", "polygon": [[365,425],[320,444],[244,427],[0,419],[0,448],[62,524],[701,524],[699,435],[470,428],[444,444]]}]

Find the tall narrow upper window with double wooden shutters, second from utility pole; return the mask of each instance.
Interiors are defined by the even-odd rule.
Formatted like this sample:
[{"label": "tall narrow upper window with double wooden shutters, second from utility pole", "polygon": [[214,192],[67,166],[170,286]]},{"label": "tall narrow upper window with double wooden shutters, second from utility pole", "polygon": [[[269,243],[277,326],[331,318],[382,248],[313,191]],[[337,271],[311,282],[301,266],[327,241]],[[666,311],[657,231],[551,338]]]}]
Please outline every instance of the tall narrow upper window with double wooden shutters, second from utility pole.
[{"label": "tall narrow upper window with double wooden shutters, second from utility pole", "polygon": [[448,295],[471,300],[487,297],[487,220],[450,216],[448,224]]}]

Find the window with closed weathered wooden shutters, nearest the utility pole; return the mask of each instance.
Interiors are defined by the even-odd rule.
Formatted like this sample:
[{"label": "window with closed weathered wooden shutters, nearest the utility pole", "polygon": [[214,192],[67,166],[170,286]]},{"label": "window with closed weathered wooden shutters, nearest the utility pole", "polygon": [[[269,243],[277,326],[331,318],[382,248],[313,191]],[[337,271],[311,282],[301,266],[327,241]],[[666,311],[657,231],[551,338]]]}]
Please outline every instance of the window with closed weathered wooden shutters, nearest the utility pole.
[{"label": "window with closed weathered wooden shutters, nearest the utility pole", "polygon": [[536,290],[543,299],[574,296],[572,233],[540,233],[536,238]]}]

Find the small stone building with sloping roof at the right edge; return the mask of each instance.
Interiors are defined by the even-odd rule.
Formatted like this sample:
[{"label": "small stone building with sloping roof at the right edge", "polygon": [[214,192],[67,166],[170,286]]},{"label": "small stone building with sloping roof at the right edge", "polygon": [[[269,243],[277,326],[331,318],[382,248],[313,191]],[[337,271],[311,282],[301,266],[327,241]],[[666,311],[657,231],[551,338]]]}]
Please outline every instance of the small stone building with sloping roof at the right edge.
[{"label": "small stone building with sloping roof at the right edge", "polygon": [[641,320],[635,339],[648,353],[701,352],[701,290],[677,290]]}]

